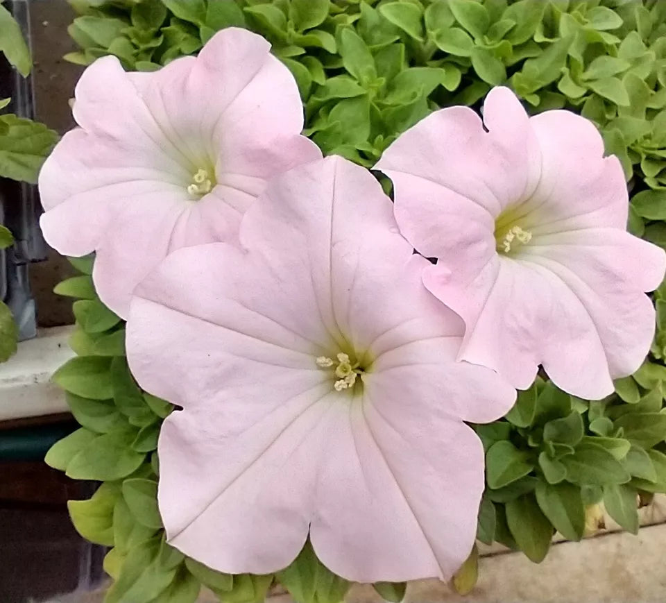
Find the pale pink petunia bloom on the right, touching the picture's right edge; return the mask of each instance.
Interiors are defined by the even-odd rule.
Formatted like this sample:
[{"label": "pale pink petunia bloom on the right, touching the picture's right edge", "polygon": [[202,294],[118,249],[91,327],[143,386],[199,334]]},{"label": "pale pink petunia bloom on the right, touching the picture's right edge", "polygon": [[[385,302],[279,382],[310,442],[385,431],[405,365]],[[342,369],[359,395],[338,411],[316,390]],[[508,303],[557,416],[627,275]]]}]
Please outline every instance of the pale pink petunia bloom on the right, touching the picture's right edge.
[{"label": "pale pink petunia bloom on the right, touching the picture's right edge", "polygon": [[438,259],[425,286],[466,323],[459,358],[520,389],[541,364],[583,398],[640,366],[654,334],[643,292],[661,282],[665,255],[626,232],[622,168],[590,121],[529,118],[495,88],[483,124],[466,107],[437,111],[377,169],[393,180],[402,234]]}]

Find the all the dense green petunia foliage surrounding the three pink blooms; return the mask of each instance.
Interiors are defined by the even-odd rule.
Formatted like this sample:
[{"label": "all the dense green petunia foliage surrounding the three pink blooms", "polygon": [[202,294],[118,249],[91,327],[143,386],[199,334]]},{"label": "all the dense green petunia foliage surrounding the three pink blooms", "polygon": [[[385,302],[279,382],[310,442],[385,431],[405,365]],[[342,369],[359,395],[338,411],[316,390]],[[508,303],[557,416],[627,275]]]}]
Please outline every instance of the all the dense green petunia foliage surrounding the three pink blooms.
[{"label": "all the dense green petunia foliage surrounding the three pink blooms", "polygon": [[[297,80],[305,133],[325,153],[366,167],[433,110],[479,108],[493,85],[511,87],[532,114],[554,108],[583,114],[624,167],[629,230],[666,249],[663,1],[69,1],[78,14],[69,33],[79,50],[67,59],[82,65],[110,54],[126,69],[151,71],[196,53],[228,26],[264,35]],[[108,603],[189,603],[201,585],[221,601],[259,601],[273,579],[298,602],[341,600],[348,584],[309,544],[271,577],[223,575],[164,542],[156,448],[173,407],[133,381],[124,325],[97,298],[92,261],[72,259],[82,274],[56,289],[79,299],[70,342],[79,357],[54,378],[68,391],[82,428],[54,445],[46,461],[70,475],[106,480],[90,501],[71,503],[70,510],[81,534],[113,546],[105,559],[115,580]],[[635,532],[638,500],[666,492],[666,284],[654,302],[649,358],[615,382],[612,396],[579,400],[538,378],[505,418],[475,425],[487,466],[479,541],[540,561],[555,531],[582,538],[599,504]],[[453,586],[468,592],[476,576],[475,550]],[[397,602],[405,585],[375,589]]]}]

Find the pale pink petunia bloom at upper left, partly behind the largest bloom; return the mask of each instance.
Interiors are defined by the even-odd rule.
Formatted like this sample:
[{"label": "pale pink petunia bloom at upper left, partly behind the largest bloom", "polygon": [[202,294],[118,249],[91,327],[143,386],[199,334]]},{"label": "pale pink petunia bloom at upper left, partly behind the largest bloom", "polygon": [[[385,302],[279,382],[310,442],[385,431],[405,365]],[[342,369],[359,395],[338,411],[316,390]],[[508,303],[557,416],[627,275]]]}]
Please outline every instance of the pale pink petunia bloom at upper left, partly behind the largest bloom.
[{"label": "pale pink petunia bloom at upper left, partly behind the largest bloom", "polygon": [[164,256],[233,241],[266,179],[321,158],[300,136],[296,82],[269,51],[228,28],[154,73],[126,73],[110,56],[81,76],[80,127],[40,173],[42,230],[62,254],[96,251],[99,296],[120,316]]}]

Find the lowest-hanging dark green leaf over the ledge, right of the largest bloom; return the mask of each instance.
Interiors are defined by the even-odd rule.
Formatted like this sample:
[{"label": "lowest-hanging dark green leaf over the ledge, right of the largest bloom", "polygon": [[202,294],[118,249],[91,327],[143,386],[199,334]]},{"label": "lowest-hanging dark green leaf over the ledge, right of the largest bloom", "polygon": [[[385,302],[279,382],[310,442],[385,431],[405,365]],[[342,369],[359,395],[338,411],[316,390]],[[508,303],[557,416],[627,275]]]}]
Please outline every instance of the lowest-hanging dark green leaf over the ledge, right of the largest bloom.
[{"label": "lowest-hanging dark green leaf over the ledge, right of the largest bloom", "polygon": [[520,550],[534,563],[545,558],[553,527],[542,513],[534,495],[527,494],[506,503],[506,523]]}]

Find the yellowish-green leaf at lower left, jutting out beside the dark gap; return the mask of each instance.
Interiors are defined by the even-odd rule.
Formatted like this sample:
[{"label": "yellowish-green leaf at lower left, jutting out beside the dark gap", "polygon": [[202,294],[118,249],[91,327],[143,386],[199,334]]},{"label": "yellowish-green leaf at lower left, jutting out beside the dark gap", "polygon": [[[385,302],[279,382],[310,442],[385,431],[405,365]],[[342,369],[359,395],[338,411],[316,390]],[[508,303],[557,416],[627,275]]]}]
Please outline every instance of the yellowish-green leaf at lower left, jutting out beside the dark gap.
[{"label": "yellowish-green leaf at lower left, jutting out beside the dark gap", "polygon": [[76,532],[95,544],[113,546],[113,508],[120,491],[102,484],[89,500],[69,500],[67,509]]}]

